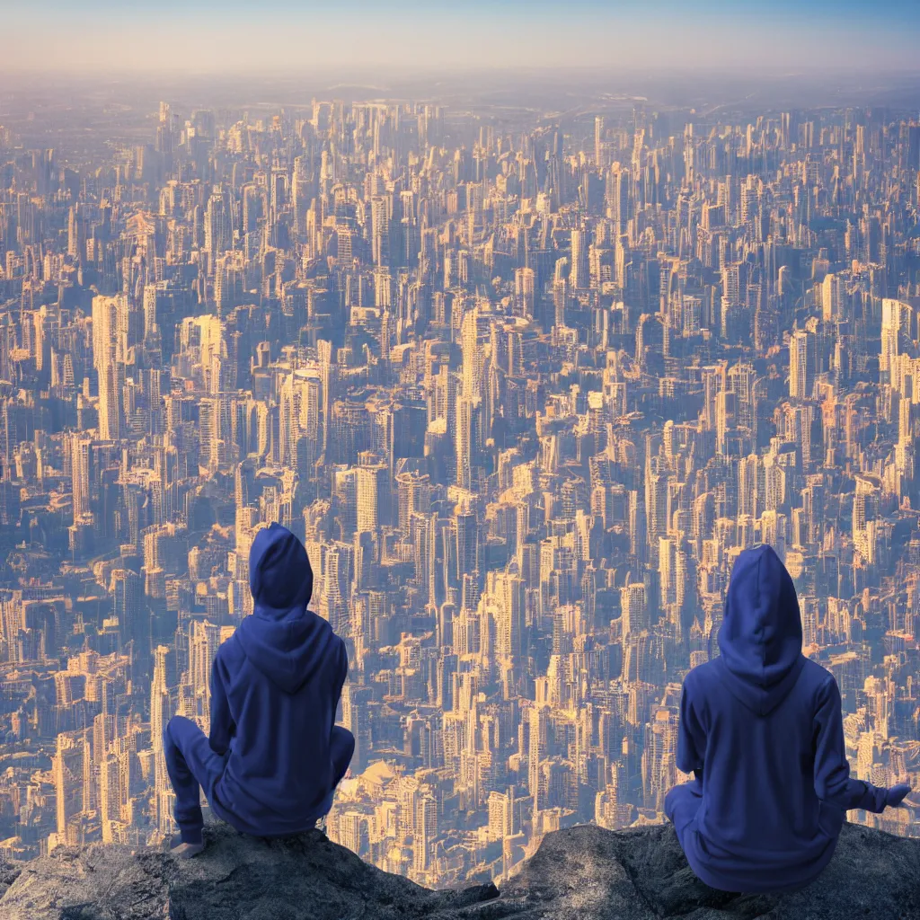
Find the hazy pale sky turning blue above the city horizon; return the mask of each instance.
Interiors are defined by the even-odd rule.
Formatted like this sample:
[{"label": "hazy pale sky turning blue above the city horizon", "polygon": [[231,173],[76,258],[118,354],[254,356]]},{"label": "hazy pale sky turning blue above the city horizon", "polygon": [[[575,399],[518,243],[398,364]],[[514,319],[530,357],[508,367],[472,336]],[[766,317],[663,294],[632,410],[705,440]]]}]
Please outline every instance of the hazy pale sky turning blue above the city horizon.
[{"label": "hazy pale sky turning blue above the city horizon", "polygon": [[0,70],[920,70],[920,0],[0,0]]}]

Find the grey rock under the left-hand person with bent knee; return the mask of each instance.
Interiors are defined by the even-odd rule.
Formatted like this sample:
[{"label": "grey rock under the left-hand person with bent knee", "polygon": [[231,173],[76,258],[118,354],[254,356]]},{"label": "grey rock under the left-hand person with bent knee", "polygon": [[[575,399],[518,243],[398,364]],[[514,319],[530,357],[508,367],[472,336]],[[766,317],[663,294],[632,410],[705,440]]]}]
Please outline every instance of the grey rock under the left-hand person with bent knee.
[{"label": "grey rock under the left-hand person with bent knee", "polygon": [[0,920],[397,920],[450,916],[498,894],[491,884],[428,891],[319,831],[270,841],[209,824],[205,840],[189,860],[153,848],[58,847],[22,867]]}]

